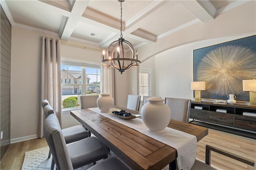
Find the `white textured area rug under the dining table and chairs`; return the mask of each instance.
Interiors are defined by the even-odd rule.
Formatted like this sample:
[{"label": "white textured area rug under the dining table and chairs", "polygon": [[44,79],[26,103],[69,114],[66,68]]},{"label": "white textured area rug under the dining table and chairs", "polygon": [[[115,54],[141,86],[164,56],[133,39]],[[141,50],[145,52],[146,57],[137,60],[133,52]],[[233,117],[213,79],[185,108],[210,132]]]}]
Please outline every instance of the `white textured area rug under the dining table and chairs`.
[{"label": "white textured area rug under the dining table and chairs", "polygon": [[[52,156],[48,158],[49,153],[49,147],[44,147],[36,150],[31,150],[25,153],[23,164],[22,164],[22,170],[50,170],[51,168],[51,162],[52,162]],[[110,151],[108,153],[108,157],[116,156],[114,152]],[[118,156],[116,156],[118,158]],[[118,158],[120,159],[120,158]],[[120,159],[121,160],[121,159]],[[199,160],[199,159],[197,159]],[[100,160],[102,161],[102,160]],[[99,162],[100,162],[99,161]],[[202,160],[200,160],[202,161]],[[204,161],[202,161],[204,162]],[[76,170],[86,170],[93,166],[93,164],[88,164],[86,166],[83,166],[81,168],[78,168]],[[212,165],[213,166],[213,165]],[[217,170],[221,170],[220,168],[213,166]],[[56,167],[54,167],[54,170],[56,170]],[[163,170],[169,170],[169,166],[163,168]]]}]

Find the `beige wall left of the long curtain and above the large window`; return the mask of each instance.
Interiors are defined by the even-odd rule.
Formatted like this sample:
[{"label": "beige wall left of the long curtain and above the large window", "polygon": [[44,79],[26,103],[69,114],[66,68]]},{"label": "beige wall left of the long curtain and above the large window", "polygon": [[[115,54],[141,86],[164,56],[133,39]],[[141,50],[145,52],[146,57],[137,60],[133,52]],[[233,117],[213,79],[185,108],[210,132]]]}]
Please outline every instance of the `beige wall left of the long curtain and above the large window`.
[{"label": "beige wall left of the long curtain and above the large window", "polygon": [[[54,36],[12,27],[12,67],[11,67],[11,142],[34,138],[37,133],[40,77],[40,38]],[[55,37],[58,38],[58,37]],[[78,45],[98,48],[81,42],[68,41]],[[61,43],[63,58],[75,61],[101,63],[101,51],[94,51]],[[78,124],[70,116],[63,114],[63,128]]]}]

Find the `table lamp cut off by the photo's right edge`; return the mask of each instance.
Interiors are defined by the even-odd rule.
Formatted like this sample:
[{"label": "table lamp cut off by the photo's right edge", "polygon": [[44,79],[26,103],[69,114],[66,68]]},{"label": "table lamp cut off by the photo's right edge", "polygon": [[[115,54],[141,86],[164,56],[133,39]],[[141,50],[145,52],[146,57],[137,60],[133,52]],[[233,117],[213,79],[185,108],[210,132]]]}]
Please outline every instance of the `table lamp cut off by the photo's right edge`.
[{"label": "table lamp cut off by the photo's right edge", "polygon": [[250,91],[250,105],[256,106],[256,79],[243,80],[243,91]]}]

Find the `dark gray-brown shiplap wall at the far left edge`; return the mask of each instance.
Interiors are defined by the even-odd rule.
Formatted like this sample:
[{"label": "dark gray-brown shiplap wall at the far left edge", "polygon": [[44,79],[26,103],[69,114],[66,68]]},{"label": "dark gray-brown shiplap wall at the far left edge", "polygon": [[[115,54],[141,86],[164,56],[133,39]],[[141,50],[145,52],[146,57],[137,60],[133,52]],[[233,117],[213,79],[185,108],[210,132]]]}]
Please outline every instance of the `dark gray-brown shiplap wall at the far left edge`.
[{"label": "dark gray-brown shiplap wall at the far left edge", "polygon": [[11,24],[0,8],[0,141],[1,159],[10,144]]}]

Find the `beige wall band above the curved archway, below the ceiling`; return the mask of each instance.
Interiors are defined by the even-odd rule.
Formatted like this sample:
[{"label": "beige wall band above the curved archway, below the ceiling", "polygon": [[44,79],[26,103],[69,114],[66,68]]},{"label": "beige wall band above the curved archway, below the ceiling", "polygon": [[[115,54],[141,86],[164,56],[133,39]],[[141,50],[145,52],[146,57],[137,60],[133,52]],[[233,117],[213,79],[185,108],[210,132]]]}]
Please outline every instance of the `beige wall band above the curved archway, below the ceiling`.
[{"label": "beige wall band above the curved archway, below the ceiling", "polygon": [[215,17],[214,20],[199,22],[160,38],[154,44],[147,44],[135,50],[139,52],[139,59],[144,61],[158,53],[187,43],[223,38],[229,36],[256,34],[256,1],[244,3]]}]

